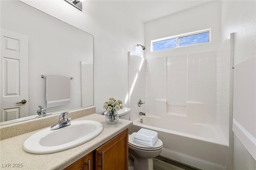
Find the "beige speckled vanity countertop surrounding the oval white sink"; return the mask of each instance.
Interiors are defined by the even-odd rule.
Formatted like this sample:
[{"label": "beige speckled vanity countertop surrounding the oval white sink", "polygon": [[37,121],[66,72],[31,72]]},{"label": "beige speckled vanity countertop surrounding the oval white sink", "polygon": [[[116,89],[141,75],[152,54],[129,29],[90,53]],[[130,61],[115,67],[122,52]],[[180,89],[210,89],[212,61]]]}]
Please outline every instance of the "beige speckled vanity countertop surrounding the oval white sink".
[{"label": "beige speckled vanity countertop surrounding the oval white sink", "polygon": [[[94,120],[102,123],[104,129],[100,135],[78,147],[51,154],[30,154],[23,150],[24,141],[32,134],[42,130],[25,133],[0,141],[0,169],[15,170],[61,170],[76,162],[86,154],[100,147],[128,127],[132,121],[119,119],[114,125],[105,121],[104,115],[91,114],[72,121]],[[72,123],[71,121],[71,123]],[[65,135],[65,134],[63,134]],[[17,167],[19,166],[19,167]],[[21,167],[22,166],[22,167]]]}]

